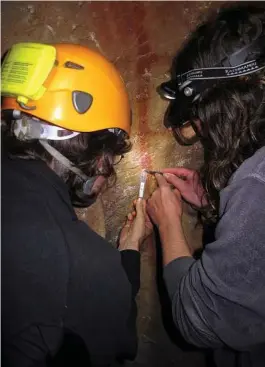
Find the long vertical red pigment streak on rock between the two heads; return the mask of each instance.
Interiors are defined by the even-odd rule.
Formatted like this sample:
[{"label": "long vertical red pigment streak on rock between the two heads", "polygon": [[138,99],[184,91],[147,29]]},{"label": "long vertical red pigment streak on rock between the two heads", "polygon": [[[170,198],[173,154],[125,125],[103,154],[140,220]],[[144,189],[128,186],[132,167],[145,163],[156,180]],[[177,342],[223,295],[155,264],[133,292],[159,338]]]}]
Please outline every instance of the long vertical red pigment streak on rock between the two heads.
[{"label": "long vertical red pigment streak on rock between the two heads", "polygon": [[145,4],[133,2],[113,3],[110,10],[112,22],[114,22],[117,29],[116,42],[121,43],[121,52],[125,50],[124,54],[127,56],[120,60],[124,63],[125,70],[125,61],[129,59],[128,53],[126,54],[126,48],[130,48],[135,43],[135,46],[129,52],[133,52],[135,49],[137,51],[137,55],[132,55],[132,59],[135,59],[136,62],[136,75],[134,78],[137,80],[137,88],[134,98],[136,98],[138,112],[139,147],[141,154],[140,166],[141,168],[151,168],[152,159],[148,152],[147,140],[147,136],[152,133],[148,125],[150,82],[144,80],[143,74],[145,73],[145,69],[151,69],[152,64],[157,61],[158,56],[151,50],[148,34],[145,29]]}]

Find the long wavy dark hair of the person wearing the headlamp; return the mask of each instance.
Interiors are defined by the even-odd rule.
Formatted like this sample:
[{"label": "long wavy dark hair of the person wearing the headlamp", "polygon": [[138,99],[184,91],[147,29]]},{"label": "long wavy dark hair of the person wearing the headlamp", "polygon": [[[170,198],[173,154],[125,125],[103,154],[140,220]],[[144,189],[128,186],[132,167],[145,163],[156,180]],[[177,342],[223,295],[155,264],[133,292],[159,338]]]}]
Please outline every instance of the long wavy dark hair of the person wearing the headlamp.
[{"label": "long wavy dark hair of the person wearing the headlamp", "polygon": [[[191,69],[217,66],[228,55],[264,36],[264,4],[224,8],[217,18],[199,26],[177,54],[173,77]],[[264,43],[245,61],[262,54]],[[210,203],[205,214],[214,220],[218,217],[220,191],[244,160],[265,145],[264,69],[247,77],[216,80],[190,110],[190,120],[198,119],[205,151],[200,174]]]}]

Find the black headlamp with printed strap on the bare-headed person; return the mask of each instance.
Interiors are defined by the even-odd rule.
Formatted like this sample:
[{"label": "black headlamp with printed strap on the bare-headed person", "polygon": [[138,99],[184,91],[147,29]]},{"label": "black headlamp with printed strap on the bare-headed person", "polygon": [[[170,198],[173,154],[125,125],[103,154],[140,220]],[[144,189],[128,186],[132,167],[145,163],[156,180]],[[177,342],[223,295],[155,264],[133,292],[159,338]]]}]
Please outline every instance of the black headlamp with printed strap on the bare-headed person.
[{"label": "black headlamp with printed strap on the bare-headed person", "polygon": [[[245,62],[257,48],[262,50],[257,60]],[[236,78],[252,74],[265,68],[265,37],[252,42],[212,68],[193,69],[178,74],[175,79],[162,83],[158,93],[168,100],[164,124],[167,128],[182,128],[190,120],[190,109],[199,100],[200,94],[217,80]]]}]

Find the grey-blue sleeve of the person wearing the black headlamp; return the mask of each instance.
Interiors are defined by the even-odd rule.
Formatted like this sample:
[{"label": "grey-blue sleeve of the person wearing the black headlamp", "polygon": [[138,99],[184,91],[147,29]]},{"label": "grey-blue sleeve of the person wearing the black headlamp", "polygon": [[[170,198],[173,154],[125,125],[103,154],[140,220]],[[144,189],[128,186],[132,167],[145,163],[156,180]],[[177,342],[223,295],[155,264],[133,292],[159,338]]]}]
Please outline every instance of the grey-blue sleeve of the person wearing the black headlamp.
[{"label": "grey-blue sleeve of the person wearing the black headlamp", "polygon": [[265,183],[247,177],[222,193],[223,215],[200,260],[164,269],[175,324],[198,347],[245,350],[265,334]]}]

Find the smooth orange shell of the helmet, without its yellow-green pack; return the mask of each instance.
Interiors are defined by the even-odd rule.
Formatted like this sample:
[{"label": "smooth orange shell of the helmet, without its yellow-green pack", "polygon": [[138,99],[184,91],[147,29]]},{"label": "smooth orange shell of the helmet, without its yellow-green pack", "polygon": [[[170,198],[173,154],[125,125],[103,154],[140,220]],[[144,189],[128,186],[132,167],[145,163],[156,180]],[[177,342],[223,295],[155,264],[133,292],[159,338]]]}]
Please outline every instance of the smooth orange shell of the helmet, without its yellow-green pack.
[{"label": "smooth orange shell of the helmet, without its yellow-green pack", "polygon": [[[29,43],[28,48],[30,45],[34,44]],[[20,110],[73,131],[93,132],[119,128],[129,134],[129,98],[114,65],[98,52],[81,45],[47,46],[53,47],[56,52],[54,62],[46,71],[48,75],[45,81],[38,80],[38,75],[43,78],[45,65],[48,65],[48,61],[44,63],[43,57],[39,61],[42,60],[43,66],[38,75],[31,75],[31,82],[35,78],[36,84],[40,84],[39,90],[32,95],[28,92],[27,96],[23,96],[23,93],[18,96],[12,95],[12,88],[9,88],[10,93],[7,93],[8,88],[7,91],[2,88],[2,110]],[[53,54],[51,49],[49,52]]]}]

